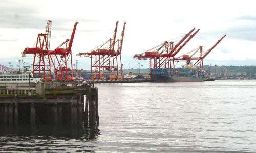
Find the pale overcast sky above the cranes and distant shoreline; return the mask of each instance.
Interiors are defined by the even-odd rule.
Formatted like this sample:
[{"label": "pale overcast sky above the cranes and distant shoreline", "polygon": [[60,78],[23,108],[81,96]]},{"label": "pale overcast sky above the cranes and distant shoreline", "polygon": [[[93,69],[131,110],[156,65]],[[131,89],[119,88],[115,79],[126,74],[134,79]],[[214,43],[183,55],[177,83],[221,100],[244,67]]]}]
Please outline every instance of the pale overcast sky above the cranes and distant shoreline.
[{"label": "pale overcast sky above the cranes and distant shoreline", "polygon": [[[70,39],[76,21],[72,45],[73,63],[78,69],[90,69],[88,52],[113,37],[119,21],[120,39],[126,22],[123,69],[148,68],[148,61],[133,59],[134,54],[184,36],[191,29],[200,31],[179,52],[181,56],[199,46],[206,52],[227,35],[204,59],[204,65],[256,65],[255,1],[19,1],[0,0],[0,64],[13,67],[21,59],[25,66],[32,55],[22,57],[25,47],[33,47],[37,34],[45,33],[52,21],[50,50]],[[177,43],[177,42],[175,42]],[[11,64],[9,64],[11,62]],[[178,63],[182,64],[182,63]],[[182,64],[183,65],[183,64]]]}]

